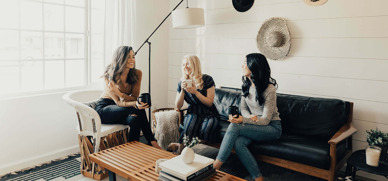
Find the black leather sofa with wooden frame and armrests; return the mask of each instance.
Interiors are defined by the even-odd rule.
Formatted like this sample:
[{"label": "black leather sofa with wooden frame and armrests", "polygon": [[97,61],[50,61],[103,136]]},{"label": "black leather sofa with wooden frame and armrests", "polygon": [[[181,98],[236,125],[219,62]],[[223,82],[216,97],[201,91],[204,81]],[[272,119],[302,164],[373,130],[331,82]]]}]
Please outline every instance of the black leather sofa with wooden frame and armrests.
[{"label": "black leather sofa with wooden frame and armrests", "polygon": [[[214,104],[221,116],[217,130],[220,147],[230,124],[228,107],[240,106],[241,89],[216,89]],[[260,161],[334,181],[338,169],[352,153],[353,103],[338,99],[277,94],[282,136],[273,141],[252,142],[249,150]],[[179,132],[184,129],[185,108],[178,110]]]}]

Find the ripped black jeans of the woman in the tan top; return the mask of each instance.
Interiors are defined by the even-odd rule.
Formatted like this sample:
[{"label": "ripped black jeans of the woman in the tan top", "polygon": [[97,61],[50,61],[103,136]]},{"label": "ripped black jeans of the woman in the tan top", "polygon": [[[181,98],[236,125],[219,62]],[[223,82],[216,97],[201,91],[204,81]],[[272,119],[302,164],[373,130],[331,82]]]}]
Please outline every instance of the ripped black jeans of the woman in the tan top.
[{"label": "ripped black jeans of the woman in the tan top", "polygon": [[140,130],[148,143],[155,141],[144,109],[119,107],[111,99],[100,98],[96,107],[102,124],[129,125],[128,141],[139,141]]}]

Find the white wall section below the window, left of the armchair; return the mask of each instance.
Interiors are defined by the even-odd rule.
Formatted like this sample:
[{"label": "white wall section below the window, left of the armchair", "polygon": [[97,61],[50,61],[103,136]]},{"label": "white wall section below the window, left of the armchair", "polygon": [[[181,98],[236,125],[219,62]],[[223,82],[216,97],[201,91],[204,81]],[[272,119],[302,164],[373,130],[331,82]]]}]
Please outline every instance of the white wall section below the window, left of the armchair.
[{"label": "white wall section below the window, left of the armchair", "polygon": [[0,101],[0,175],[79,152],[77,115],[64,94]]}]

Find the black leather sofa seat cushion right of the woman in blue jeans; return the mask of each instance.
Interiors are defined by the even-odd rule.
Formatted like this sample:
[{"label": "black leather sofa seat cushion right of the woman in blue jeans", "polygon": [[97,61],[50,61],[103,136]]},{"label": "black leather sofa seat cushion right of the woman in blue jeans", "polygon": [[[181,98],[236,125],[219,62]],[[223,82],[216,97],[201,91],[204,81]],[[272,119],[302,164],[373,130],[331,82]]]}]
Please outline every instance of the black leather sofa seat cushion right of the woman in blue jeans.
[{"label": "black leather sofa seat cushion right of the woman in blue jeans", "polygon": [[[252,154],[277,157],[329,170],[330,144],[328,140],[300,135],[282,135],[277,140],[253,141],[248,148]],[[337,145],[337,159],[343,157],[346,142]]]}]

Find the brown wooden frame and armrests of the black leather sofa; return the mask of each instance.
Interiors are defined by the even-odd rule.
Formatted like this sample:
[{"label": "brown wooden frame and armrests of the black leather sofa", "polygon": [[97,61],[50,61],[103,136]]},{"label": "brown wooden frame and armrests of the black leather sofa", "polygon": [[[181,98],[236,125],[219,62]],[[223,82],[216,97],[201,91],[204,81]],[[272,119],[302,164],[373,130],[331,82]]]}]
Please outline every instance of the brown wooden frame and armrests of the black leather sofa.
[{"label": "brown wooden frame and armrests of the black leather sofa", "polygon": [[[187,107],[182,107],[181,109],[177,110],[177,112],[179,112],[178,127],[181,123],[183,123],[185,110],[187,110]],[[263,162],[267,162],[267,163],[288,168],[294,171],[316,176],[319,178],[327,179],[329,181],[334,181],[336,178],[337,171],[345,165],[346,160],[352,154],[352,135],[355,134],[355,132],[357,132],[357,129],[353,126],[352,120],[353,120],[353,103],[350,102],[348,121],[327,142],[328,144],[330,144],[329,170],[321,169],[321,168],[317,168],[317,167],[313,167],[313,166],[309,166],[306,164],[301,164],[298,162],[293,162],[285,159],[280,159],[276,157],[259,155],[259,154],[254,155],[254,157],[257,160],[260,160]],[[343,156],[342,159],[337,160],[336,147],[337,147],[337,144],[339,144],[342,141],[347,142],[345,156]],[[215,143],[215,144],[205,143],[205,144],[216,148],[220,148],[221,146],[221,143]],[[236,153],[234,150],[232,150],[232,152]]]}]

